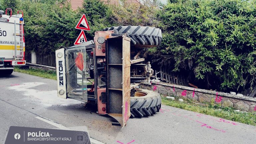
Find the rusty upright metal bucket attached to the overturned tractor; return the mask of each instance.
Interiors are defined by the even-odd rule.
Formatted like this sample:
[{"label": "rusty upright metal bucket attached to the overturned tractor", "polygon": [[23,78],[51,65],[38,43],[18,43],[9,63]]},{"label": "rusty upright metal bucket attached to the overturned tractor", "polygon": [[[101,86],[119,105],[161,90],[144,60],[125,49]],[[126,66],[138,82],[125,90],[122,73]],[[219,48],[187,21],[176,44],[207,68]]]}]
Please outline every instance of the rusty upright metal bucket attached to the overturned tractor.
[{"label": "rusty upright metal bucket attached to the overturned tractor", "polygon": [[122,126],[130,113],[130,38],[122,35],[107,39],[108,115]]}]

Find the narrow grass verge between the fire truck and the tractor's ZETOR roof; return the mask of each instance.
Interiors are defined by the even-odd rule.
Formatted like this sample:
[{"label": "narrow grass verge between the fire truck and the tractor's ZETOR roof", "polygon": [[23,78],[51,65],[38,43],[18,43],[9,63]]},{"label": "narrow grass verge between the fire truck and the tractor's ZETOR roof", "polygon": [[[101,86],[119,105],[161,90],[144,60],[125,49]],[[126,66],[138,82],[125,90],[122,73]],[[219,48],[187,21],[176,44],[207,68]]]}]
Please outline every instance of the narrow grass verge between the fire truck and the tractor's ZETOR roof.
[{"label": "narrow grass verge between the fire truck and the tractor's ZETOR roof", "polygon": [[40,69],[20,69],[19,67],[14,68],[15,72],[30,74],[34,76],[39,76],[43,78],[53,79],[57,80],[56,72],[55,71],[46,71],[46,70],[40,70]]}]

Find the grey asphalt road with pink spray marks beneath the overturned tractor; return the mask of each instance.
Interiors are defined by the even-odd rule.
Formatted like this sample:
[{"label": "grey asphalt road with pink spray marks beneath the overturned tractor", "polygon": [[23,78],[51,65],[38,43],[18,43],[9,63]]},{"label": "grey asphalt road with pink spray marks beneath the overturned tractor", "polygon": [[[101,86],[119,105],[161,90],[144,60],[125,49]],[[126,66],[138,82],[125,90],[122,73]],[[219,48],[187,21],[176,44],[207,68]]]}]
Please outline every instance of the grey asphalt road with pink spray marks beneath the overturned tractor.
[{"label": "grey asphalt road with pink spray marks beneath the overturned tractor", "polygon": [[[57,82],[14,72],[0,77],[0,143],[10,126],[88,128],[92,138],[108,144],[255,143],[256,127],[170,106],[150,117],[112,126],[112,118],[73,99],[57,97]],[[45,119],[41,118],[44,117]]]}]

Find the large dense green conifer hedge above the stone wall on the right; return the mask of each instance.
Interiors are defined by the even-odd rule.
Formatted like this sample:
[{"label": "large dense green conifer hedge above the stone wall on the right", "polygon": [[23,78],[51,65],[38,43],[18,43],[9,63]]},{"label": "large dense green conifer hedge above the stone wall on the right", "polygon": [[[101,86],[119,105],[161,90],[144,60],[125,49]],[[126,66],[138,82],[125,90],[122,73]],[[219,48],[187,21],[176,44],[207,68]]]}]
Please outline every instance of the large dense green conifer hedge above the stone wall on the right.
[{"label": "large dense green conifer hedge above the stone wall on the right", "polygon": [[[159,11],[163,45],[151,49],[173,70],[213,79],[222,90],[254,84],[255,0],[178,0]],[[214,86],[213,86],[214,87]]]}]

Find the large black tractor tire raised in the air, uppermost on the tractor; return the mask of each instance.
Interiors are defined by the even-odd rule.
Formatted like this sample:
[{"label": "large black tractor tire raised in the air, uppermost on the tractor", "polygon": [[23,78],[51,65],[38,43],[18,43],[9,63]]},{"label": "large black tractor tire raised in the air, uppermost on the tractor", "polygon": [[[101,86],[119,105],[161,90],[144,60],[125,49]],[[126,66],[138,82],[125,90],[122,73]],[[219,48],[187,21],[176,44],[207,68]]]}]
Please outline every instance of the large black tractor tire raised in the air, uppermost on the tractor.
[{"label": "large black tractor tire raised in the air, uppermost on the tractor", "polygon": [[109,27],[103,31],[114,30],[114,33],[127,33],[131,44],[144,45],[145,47],[159,46],[162,42],[162,31],[155,27],[145,26],[119,26]]}]

